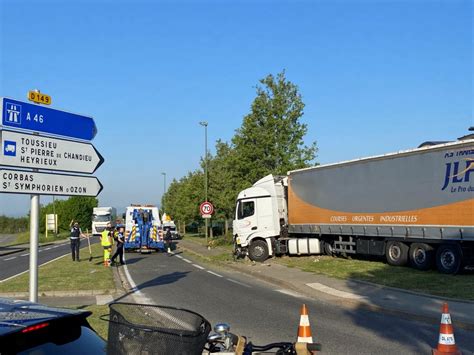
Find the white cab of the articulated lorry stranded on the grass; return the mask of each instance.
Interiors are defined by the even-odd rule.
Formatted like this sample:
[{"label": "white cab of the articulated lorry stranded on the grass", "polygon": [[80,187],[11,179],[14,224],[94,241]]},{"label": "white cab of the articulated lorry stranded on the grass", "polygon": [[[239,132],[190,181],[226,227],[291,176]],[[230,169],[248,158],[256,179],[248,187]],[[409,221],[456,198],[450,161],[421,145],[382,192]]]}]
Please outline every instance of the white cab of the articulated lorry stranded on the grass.
[{"label": "white cab of the articulated lorry stranded on the grass", "polygon": [[286,177],[267,175],[239,193],[233,231],[241,255],[249,255],[255,261],[273,255],[272,240],[288,223],[287,181]]}]

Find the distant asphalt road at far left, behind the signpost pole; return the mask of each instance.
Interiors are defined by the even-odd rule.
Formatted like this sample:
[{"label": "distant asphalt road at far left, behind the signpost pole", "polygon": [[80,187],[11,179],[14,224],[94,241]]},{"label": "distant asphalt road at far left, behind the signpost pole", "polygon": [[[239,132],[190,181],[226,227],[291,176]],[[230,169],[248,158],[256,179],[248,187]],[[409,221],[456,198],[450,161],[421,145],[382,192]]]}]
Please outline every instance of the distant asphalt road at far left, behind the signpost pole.
[{"label": "distant asphalt road at far left, behind the signpost pole", "polygon": [[[91,244],[97,243],[98,238],[92,237]],[[86,240],[81,240],[81,248],[87,246]],[[59,258],[63,255],[71,254],[71,247],[69,240],[58,244],[50,244],[40,246],[38,250],[38,265],[45,264],[51,260]],[[79,256],[82,260],[89,258],[89,252],[81,250]],[[30,253],[29,249],[21,252],[8,254],[0,257],[0,282],[8,279],[14,275],[27,272],[30,267]]]}]

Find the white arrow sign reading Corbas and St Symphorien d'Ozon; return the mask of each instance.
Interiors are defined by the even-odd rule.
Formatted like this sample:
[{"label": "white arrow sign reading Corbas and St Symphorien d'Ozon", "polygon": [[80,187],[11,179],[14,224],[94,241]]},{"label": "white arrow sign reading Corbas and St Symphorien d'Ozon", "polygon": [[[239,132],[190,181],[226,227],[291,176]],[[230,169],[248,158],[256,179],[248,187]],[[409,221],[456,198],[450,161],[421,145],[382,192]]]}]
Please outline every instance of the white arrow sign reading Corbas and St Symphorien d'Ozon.
[{"label": "white arrow sign reading Corbas and St Symphorien d'Ozon", "polygon": [[102,184],[93,176],[0,169],[0,192],[15,194],[97,196]]}]

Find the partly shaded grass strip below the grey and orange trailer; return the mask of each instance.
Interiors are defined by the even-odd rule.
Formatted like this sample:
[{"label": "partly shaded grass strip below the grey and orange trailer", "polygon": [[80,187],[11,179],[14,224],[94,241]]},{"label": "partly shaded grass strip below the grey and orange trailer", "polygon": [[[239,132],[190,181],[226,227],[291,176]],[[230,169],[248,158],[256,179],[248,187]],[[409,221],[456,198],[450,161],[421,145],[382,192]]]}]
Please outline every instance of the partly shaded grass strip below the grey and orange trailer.
[{"label": "partly shaded grass strip below the grey and orange trailer", "polygon": [[419,271],[397,267],[380,260],[357,260],[330,256],[283,257],[280,264],[338,279],[353,279],[422,292],[434,296],[474,301],[472,273],[445,275],[436,270]]}]

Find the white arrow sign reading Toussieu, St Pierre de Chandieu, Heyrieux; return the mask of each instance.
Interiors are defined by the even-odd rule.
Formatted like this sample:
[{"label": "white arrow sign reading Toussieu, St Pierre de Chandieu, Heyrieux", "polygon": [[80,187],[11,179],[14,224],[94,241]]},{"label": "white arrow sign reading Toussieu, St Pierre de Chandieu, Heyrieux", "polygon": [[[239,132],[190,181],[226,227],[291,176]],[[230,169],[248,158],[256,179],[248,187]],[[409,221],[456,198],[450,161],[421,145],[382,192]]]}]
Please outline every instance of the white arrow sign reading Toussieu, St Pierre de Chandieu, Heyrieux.
[{"label": "white arrow sign reading Toussieu, St Pierre de Chandieu, Heyrieux", "polygon": [[92,174],[104,158],[90,143],[0,131],[0,165]]}]

